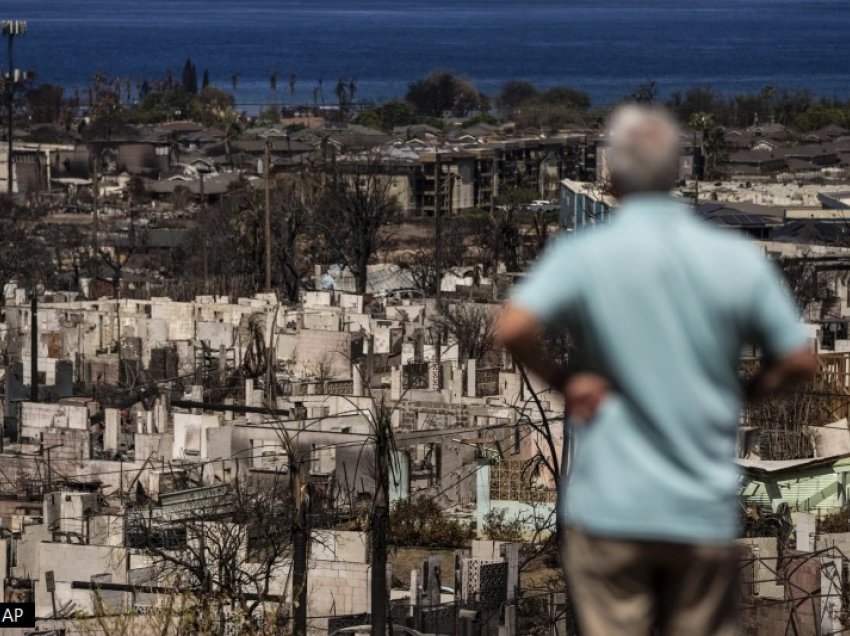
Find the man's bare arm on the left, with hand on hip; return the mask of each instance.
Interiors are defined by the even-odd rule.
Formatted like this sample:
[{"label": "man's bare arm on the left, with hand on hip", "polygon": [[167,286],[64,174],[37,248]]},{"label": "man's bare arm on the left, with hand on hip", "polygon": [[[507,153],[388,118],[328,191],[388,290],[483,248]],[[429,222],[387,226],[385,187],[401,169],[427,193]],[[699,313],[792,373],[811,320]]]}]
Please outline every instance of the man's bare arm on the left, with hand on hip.
[{"label": "man's bare arm on the left, with hand on hip", "polygon": [[496,322],[496,342],[504,346],[523,367],[561,391],[567,413],[577,421],[589,422],[596,415],[610,383],[592,373],[569,374],[555,364],[540,344],[543,326],[529,311],[508,304]]}]

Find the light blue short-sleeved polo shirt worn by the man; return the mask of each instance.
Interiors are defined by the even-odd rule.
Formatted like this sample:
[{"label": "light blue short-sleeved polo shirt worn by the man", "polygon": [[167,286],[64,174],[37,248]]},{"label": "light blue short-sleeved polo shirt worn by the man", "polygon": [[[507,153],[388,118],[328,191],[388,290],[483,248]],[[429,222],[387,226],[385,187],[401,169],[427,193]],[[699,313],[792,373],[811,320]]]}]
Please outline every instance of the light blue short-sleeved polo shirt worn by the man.
[{"label": "light blue short-sleeved polo shirt worn by the man", "polygon": [[630,197],[610,223],[548,248],[513,303],[565,327],[577,367],[615,387],[593,422],[574,427],[559,521],[627,539],[735,538],[742,347],[782,356],[806,346],[758,250],[673,198]]}]

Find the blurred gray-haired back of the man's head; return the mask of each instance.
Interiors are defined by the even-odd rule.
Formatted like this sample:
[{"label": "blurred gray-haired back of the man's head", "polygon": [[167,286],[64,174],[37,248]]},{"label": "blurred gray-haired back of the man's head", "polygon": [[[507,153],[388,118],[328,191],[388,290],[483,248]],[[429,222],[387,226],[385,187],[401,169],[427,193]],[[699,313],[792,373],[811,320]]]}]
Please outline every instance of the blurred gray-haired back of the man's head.
[{"label": "blurred gray-haired back of the man's head", "polygon": [[618,197],[669,192],[678,181],[680,129],[657,106],[620,106],[608,120],[608,168]]}]

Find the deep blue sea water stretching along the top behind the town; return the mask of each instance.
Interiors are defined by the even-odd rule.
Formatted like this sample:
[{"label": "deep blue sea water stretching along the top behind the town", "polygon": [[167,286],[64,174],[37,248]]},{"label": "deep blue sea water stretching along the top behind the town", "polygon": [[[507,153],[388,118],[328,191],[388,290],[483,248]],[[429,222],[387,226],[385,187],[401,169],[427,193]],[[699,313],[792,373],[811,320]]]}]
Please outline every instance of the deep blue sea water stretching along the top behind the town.
[{"label": "deep blue sea water stretching along the top behind the town", "polygon": [[7,0],[2,11],[29,21],[16,66],[41,81],[179,77],[190,57],[225,88],[238,74],[247,108],[310,102],[320,78],[329,102],[340,77],[360,100],[387,99],[434,68],[491,94],[524,78],[599,104],[647,80],[662,93],[850,95],[850,0]]}]

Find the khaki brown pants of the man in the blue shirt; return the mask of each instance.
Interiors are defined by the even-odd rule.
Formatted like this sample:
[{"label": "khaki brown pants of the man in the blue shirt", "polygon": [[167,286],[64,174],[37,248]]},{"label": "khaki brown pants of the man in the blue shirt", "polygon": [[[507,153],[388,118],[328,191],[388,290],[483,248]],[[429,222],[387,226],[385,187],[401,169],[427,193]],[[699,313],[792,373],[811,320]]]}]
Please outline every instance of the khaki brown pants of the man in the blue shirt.
[{"label": "khaki brown pants of the man in the blue shirt", "polygon": [[734,636],[733,546],[591,537],[567,530],[561,563],[583,636]]}]

